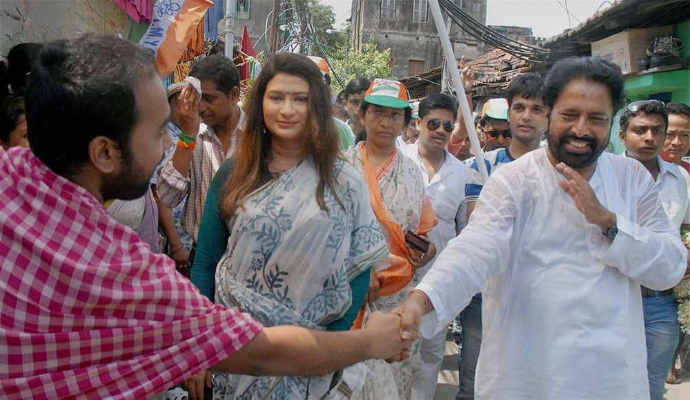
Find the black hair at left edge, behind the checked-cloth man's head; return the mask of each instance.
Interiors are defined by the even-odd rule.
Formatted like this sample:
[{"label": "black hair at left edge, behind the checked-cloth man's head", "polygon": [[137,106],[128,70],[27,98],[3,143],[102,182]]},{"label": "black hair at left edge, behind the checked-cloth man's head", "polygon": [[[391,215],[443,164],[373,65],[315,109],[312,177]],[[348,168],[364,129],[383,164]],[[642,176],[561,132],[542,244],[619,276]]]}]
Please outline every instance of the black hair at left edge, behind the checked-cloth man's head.
[{"label": "black hair at left edge, behind the checked-cloth man's head", "polygon": [[13,94],[23,96],[28,75],[34,70],[35,59],[43,45],[19,43],[7,54],[8,68],[0,76],[0,99],[8,94],[8,84]]}]

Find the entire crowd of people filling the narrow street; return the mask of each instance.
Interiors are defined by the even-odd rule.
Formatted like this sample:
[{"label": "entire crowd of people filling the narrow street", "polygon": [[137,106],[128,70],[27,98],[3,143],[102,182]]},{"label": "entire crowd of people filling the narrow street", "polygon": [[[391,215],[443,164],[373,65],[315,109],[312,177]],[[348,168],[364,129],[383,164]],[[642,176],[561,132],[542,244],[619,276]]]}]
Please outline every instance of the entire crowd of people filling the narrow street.
[{"label": "entire crowd of people filling the narrow street", "polygon": [[451,94],[336,96],[322,59],[281,53],[240,104],[221,54],[164,88],[112,35],[15,49],[9,398],[431,400],[451,322],[457,399],[661,400],[678,379],[690,108],[627,104],[607,61],[478,105],[484,181]]}]

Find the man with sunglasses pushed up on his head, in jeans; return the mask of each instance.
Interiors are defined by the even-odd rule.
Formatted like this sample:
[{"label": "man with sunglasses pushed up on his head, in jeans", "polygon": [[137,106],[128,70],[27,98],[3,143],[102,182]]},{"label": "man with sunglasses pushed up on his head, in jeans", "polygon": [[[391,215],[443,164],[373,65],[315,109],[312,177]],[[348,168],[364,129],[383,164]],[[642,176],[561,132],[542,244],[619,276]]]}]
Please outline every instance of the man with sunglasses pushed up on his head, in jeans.
[{"label": "man with sunglasses pushed up on his head, in jeans", "polygon": [[[659,198],[671,223],[678,231],[688,228],[688,188],[684,171],[664,161],[659,153],[664,147],[669,117],[664,103],[642,100],[630,103],[620,116],[620,141],[625,157],[640,161],[647,168],[659,190]],[[673,288],[652,290],[642,286],[644,334],[647,341],[647,372],[652,400],[664,398],[664,380],[678,345],[678,317]]]}]

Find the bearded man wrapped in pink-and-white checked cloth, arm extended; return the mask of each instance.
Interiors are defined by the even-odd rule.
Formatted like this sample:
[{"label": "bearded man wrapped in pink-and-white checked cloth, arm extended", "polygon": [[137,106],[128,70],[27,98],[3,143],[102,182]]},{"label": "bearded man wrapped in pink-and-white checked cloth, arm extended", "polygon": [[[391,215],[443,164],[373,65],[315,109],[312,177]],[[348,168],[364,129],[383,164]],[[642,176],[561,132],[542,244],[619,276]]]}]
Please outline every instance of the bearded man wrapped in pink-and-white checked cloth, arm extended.
[{"label": "bearded man wrapped in pink-and-white checked cloth, arm extended", "polygon": [[148,190],[172,144],[169,118],[148,50],[83,34],[39,53],[26,96],[31,149],[0,149],[3,397],[144,399],[205,368],[319,376],[406,357],[397,315],[319,332],[263,328],[215,306],[108,217],[103,201]]}]

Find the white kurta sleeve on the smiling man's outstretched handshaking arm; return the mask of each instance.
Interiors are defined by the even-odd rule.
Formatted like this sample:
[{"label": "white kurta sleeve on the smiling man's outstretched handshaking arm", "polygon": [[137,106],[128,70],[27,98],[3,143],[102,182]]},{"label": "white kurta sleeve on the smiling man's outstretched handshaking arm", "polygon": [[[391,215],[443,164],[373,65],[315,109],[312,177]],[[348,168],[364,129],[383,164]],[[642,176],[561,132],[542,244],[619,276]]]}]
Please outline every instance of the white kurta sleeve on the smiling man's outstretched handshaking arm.
[{"label": "white kurta sleeve on the smiling man's outstretched handshaking arm", "polygon": [[482,292],[487,279],[503,272],[510,260],[515,199],[489,179],[470,223],[449,241],[417,289],[426,293],[433,311],[422,319],[421,333],[430,338]]}]

